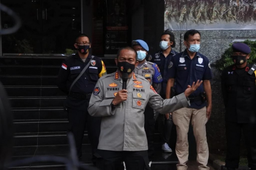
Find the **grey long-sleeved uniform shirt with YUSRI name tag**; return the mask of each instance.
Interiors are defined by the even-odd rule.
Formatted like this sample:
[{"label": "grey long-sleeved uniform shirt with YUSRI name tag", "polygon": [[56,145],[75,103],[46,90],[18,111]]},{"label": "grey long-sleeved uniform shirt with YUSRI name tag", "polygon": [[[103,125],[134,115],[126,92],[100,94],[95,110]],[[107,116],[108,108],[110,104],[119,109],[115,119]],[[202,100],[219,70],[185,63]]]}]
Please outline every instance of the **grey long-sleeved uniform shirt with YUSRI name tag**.
[{"label": "grey long-sleeved uniform shirt with YUSRI name tag", "polygon": [[172,99],[162,99],[150,83],[133,73],[127,82],[127,101],[116,107],[110,104],[122,89],[118,72],[101,77],[91,95],[88,112],[102,117],[98,149],[109,151],[144,151],[148,149],[144,130],[144,109],[147,103],[166,114],[190,105],[184,93]]}]

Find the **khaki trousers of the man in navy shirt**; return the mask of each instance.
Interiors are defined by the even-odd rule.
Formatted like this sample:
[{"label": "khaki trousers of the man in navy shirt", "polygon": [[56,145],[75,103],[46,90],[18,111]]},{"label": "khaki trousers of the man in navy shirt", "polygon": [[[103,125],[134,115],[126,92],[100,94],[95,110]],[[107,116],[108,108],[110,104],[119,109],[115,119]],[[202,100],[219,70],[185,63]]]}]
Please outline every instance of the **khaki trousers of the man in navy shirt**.
[{"label": "khaki trousers of the man in navy shirt", "polygon": [[206,138],[205,124],[207,123],[206,107],[201,109],[182,108],[172,113],[172,119],[177,129],[176,154],[179,160],[177,170],[187,170],[189,158],[189,142],[187,133],[189,132],[190,118],[192,118],[193,132],[196,139],[197,162],[199,170],[209,170],[207,167],[209,149]]}]

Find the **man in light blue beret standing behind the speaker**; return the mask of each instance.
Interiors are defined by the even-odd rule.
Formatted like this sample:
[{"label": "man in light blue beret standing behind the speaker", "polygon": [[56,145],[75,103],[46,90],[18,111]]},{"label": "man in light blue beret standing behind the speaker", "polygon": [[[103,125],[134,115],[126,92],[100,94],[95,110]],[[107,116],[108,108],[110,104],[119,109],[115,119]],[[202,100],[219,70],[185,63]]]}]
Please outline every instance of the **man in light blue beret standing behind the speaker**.
[{"label": "man in light blue beret standing behind the speaker", "polygon": [[[146,61],[146,56],[149,50],[148,44],[143,40],[134,40],[132,41],[132,48],[137,51],[137,60],[139,61],[137,67],[134,70],[135,74],[146,78],[156,90],[157,94],[160,94],[161,82],[163,81],[163,78],[159,67],[153,62]],[[139,95],[141,95],[141,93],[139,93]],[[144,128],[148,140],[148,161],[149,166],[151,166],[152,159],[154,157],[155,119],[154,110],[149,105],[147,105],[145,108],[144,118]]]}]

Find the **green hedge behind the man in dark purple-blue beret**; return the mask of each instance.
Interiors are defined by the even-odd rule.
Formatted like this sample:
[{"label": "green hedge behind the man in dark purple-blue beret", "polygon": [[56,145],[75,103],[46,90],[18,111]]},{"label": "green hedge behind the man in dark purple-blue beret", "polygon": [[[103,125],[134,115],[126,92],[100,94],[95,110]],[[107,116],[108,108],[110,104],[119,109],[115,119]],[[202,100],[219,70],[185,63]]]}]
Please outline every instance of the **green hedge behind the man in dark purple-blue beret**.
[{"label": "green hedge behind the man in dark purple-blue beret", "polygon": [[[243,43],[247,44],[252,50],[250,54],[250,59],[248,60],[248,62],[256,63],[256,41],[245,40],[243,41]],[[219,71],[222,71],[224,68],[234,64],[234,62],[232,61],[231,55],[232,55],[232,43],[229,44],[229,48],[222,55],[222,58],[216,62],[216,67],[218,68]]]}]

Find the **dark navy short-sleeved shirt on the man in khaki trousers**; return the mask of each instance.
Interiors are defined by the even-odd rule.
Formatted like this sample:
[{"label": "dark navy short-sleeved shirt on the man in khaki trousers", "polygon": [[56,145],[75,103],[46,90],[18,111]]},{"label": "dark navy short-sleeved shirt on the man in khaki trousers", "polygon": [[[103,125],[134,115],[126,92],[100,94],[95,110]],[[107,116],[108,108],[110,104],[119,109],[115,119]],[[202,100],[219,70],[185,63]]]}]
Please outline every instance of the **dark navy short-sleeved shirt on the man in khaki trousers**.
[{"label": "dark navy short-sleeved shirt on the man in khaki trousers", "polygon": [[[187,54],[187,50],[181,52],[168,61],[168,79],[175,78],[175,90],[177,94],[183,93],[187,85],[192,85],[197,80],[210,80],[212,78],[211,66],[208,58],[201,53],[196,53],[193,59]],[[194,98],[204,92],[204,86],[196,89],[189,97]],[[200,109],[206,102],[193,102],[190,108]]]}]

